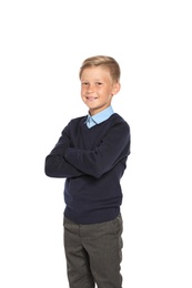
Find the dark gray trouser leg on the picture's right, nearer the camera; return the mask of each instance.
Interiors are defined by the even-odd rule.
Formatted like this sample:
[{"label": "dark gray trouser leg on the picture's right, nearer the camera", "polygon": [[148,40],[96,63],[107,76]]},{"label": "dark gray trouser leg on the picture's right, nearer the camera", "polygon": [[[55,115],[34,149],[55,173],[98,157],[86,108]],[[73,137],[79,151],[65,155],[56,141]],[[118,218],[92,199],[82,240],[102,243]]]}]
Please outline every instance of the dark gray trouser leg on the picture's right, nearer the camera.
[{"label": "dark gray trouser leg on the picture's right, nearer the camera", "polygon": [[[89,232],[88,232],[89,229]],[[88,251],[98,288],[122,288],[122,218],[83,226],[82,244]]]}]

